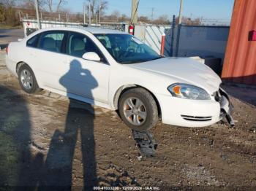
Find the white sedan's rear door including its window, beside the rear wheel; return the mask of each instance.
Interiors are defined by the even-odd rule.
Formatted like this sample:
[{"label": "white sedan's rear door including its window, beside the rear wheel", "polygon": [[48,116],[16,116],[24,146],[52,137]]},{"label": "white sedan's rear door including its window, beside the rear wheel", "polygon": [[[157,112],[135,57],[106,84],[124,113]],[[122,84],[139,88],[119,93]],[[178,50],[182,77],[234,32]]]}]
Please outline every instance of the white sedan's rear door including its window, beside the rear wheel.
[{"label": "white sedan's rear door including its window, beside the rear wheel", "polygon": [[66,31],[43,32],[39,36],[37,48],[30,51],[34,70],[43,87],[65,91],[59,84],[59,79],[69,71],[69,66],[62,59],[66,36]]}]

